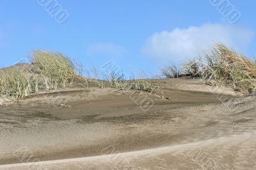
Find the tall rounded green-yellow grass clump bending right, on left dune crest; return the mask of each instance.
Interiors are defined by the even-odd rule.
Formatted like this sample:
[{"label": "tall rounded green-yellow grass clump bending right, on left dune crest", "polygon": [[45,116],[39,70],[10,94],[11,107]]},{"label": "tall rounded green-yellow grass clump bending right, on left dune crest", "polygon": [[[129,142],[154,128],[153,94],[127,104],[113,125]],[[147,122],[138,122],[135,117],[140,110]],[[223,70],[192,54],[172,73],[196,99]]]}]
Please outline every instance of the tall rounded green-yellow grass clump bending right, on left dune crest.
[{"label": "tall rounded green-yellow grass clump bending right, on left dune crest", "polygon": [[32,62],[40,68],[40,72],[45,76],[45,82],[49,84],[47,88],[56,89],[58,86],[65,88],[77,77],[74,63],[63,54],[35,51],[33,52]]}]

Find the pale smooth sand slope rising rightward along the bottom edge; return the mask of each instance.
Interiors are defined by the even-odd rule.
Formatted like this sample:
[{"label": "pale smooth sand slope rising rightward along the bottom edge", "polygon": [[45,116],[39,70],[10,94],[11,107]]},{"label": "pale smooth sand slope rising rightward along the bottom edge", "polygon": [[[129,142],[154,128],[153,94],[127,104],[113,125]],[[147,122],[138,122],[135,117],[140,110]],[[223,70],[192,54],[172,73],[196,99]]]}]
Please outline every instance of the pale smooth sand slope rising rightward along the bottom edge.
[{"label": "pale smooth sand slope rising rightward along the bottom edge", "polygon": [[129,153],[53,160],[40,163],[2,166],[8,169],[255,169],[255,130],[238,135],[217,137]]}]

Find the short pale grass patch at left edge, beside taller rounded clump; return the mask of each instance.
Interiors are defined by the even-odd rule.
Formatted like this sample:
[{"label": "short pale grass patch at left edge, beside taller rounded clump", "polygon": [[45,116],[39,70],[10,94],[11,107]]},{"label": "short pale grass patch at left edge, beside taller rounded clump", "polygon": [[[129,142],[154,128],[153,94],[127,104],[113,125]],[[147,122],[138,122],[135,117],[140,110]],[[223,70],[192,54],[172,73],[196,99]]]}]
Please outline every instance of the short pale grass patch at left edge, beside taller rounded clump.
[{"label": "short pale grass patch at left edge, beside taller rounded clump", "polygon": [[38,92],[38,82],[33,75],[12,71],[0,75],[0,96],[20,99]]}]

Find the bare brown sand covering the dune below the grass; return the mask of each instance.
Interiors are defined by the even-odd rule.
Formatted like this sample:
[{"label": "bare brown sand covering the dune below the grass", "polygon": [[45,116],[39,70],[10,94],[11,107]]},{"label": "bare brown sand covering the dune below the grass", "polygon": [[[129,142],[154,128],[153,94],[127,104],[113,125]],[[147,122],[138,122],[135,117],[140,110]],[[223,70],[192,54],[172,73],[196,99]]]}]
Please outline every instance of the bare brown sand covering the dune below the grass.
[{"label": "bare brown sand covering the dune below the grass", "polygon": [[0,169],[256,169],[256,96],[158,82],[164,98],[133,93],[150,110],[132,91],[97,88],[1,105]]}]

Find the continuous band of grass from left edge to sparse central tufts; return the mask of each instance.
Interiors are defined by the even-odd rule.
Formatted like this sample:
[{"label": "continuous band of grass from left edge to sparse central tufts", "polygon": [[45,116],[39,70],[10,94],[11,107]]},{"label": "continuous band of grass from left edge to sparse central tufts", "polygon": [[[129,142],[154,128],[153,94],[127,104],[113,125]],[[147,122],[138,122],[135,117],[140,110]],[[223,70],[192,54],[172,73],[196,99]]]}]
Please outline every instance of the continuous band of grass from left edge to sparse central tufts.
[{"label": "continuous band of grass from left edge to sparse central tufts", "polygon": [[[21,69],[0,73],[0,97],[20,99],[38,91],[48,91],[58,87],[65,88],[72,82],[84,82],[84,87],[89,88],[88,81],[93,82],[98,88],[113,88],[117,90],[140,90],[152,93],[160,90],[148,79],[128,79],[122,70],[110,70],[102,73],[93,67],[91,77],[83,77],[83,66],[72,62],[63,54],[37,50],[31,56],[32,70]],[[77,66],[79,68],[77,69]],[[35,68],[35,69],[34,69]]]}]

